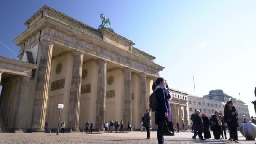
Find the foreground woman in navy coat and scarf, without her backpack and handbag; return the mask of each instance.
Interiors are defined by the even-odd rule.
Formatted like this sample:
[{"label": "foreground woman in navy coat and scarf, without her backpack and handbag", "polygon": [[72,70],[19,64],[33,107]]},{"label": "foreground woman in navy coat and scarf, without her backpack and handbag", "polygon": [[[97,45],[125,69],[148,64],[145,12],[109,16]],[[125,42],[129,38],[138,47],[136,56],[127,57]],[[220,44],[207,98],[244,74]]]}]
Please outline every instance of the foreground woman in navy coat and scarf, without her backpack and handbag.
[{"label": "foreground woman in navy coat and scarf, without her backpack and handbag", "polygon": [[[155,91],[155,95],[158,99],[158,107],[155,112],[155,124],[158,125],[160,121],[166,119],[168,124],[172,124],[172,115],[171,115],[171,105],[170,100],[172,99],[167,80],[164,80],[162,77],[158,77],[152,85],[152,90]],[[164,143],[162,130],[157,128],[157,140],[158,144]],[[171,130],[174,134],[174,130]]]}]

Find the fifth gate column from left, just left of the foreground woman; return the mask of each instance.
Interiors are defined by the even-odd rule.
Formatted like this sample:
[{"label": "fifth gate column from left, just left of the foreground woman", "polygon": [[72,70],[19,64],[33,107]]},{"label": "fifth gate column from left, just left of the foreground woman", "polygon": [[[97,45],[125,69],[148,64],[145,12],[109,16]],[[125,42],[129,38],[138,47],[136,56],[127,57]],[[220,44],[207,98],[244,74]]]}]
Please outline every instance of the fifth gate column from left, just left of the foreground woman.
[{"label": "fifth gate column from left, just left of the foreground woman", "polygon": [[140,90],[139,90],[139,96],[140,96],[140,113],[139,113],[139,120],[142,120],[142,117],[144,116],[144,113],[147,109],[147,91],[146,91],[146,75],[140,74]]}]

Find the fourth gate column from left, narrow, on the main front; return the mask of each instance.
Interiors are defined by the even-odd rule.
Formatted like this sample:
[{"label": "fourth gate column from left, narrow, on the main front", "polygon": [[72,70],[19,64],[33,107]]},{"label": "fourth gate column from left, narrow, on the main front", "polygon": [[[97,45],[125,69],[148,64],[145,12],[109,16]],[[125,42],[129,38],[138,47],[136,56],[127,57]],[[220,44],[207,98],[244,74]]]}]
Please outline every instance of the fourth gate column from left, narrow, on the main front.
[{"label": "fourth gate column from left, narrow, on the main front", "polygon": [[124,96],[123,96],[123,120],[132,122],[131,109],[131,69],[124,69]]}]

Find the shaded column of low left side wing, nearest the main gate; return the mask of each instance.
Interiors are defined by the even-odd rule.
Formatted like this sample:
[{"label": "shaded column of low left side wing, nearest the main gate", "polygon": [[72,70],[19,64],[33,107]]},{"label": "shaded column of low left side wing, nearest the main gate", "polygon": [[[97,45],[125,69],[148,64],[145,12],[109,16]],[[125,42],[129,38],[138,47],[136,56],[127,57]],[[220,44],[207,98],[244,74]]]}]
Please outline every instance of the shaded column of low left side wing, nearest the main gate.
[{"label": "shaded column of low left side wing, nearest the main gate", "polygon": [[21,91],[19,95],[19,104],[16,115],[15,131],[23,131],[26,108],[29,99],[29,79],[30,77],[23,76],[21,81]]}]

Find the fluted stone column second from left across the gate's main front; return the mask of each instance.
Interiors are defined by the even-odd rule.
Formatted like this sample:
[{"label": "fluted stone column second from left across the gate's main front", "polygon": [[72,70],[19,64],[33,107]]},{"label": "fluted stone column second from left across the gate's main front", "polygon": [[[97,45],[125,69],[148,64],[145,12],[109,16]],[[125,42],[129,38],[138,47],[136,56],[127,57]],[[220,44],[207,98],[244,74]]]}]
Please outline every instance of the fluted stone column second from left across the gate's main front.
[{"label": "fluted stone column second from left across the gate's main front", "polygon": [[72,79],[69,96],[69,118],[68,128],[72,131],[79,131],[79,110],[80,110],[80,95],[81,95],[81,80],[82,80],[82,66],[83,66],[83,53],[74,51]]}]

